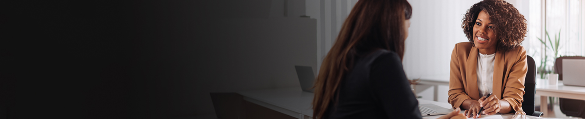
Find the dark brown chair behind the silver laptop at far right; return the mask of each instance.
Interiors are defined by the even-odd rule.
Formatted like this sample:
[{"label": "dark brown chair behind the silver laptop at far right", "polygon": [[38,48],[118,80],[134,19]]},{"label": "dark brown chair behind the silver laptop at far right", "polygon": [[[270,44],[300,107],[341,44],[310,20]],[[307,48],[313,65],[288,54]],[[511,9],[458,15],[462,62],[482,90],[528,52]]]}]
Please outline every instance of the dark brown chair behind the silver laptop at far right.
[{"label": "dark brown chair behind the silver laptop at far right", "polygon": [[[585,57],[559,57],[555,60],[555,73],[563,80],[563,59],[585,59]],[[568,116],[585,118],[585,100],[559,98],[560,111]]]}]

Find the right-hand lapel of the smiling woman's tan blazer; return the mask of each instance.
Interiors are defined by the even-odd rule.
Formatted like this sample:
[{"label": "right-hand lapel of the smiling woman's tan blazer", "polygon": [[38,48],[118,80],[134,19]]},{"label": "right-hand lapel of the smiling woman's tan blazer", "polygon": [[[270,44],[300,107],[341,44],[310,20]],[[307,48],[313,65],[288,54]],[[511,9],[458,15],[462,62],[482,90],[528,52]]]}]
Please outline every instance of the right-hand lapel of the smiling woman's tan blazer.
[{"label": "right-hand lapel of the smiling woman's tan blazer", "polygon": [[495,52],[495,59],[494,59],[494,79],[492,85],[492,95],[498,97],[498,99],[502,99],[502,81],[504,79],[504,59],[505,53],[503,51],[496,51]]}]

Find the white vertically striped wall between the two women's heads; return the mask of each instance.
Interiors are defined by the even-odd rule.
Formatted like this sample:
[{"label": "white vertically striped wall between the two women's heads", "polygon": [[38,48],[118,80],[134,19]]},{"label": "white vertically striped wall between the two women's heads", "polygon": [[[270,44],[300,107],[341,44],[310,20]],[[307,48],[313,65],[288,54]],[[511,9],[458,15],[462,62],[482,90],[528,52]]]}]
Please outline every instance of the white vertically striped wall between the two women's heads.
[{"label": "white vertically striped wall between the two women's heads", "polygon": [[404,70],[408,78],[448,75],[456,43],[468,41],[461,28],[462,18],[473,0],[409,0],[412,18],[406,41]]}]

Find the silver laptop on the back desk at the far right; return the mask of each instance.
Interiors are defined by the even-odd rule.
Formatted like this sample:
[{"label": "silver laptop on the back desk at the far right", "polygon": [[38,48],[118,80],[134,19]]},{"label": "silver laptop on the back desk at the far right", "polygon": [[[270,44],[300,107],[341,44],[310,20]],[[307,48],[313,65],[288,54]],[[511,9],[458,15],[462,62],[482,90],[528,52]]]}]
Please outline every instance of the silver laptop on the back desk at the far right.
[{"label": "silver laptop on the back desk at the far right", "polygon": [[585,86],[585,59],[563,59],[563,84]]}]

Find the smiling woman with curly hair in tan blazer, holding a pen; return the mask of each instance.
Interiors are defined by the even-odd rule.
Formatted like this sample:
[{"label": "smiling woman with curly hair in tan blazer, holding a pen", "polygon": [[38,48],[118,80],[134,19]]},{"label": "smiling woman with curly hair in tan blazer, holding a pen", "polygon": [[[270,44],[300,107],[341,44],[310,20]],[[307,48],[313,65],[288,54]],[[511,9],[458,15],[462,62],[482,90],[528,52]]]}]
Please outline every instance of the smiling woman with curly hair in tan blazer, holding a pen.
[{"label": "smiling woman with curly hair in tan blazer, holding a pen", "polygon": [[467,10],[462,28],[469,42],[455,44],[451,54],[449,103],[473,118],[522,111],[524,16],[508,2],[484,0]]}]

